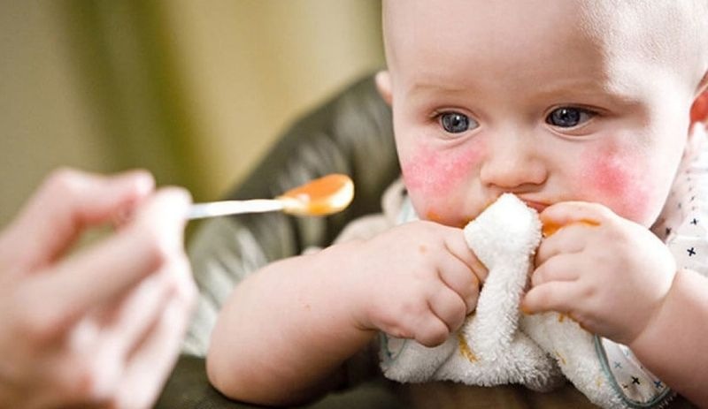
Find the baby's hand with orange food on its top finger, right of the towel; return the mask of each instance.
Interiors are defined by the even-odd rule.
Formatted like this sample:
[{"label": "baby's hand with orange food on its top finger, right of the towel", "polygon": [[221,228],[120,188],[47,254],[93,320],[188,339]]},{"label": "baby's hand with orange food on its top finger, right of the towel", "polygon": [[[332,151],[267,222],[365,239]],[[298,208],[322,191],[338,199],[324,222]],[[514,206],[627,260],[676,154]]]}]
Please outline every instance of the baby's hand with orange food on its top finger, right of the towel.
[{"label": "baby's hand with orange food on its top finger, right of the towel", "polygon": [[629,345],[647,327],[671,288],[669,249],[640,224],[596,203],[569,201],[543,210],[525,313],[558,311],[584,329]]}]

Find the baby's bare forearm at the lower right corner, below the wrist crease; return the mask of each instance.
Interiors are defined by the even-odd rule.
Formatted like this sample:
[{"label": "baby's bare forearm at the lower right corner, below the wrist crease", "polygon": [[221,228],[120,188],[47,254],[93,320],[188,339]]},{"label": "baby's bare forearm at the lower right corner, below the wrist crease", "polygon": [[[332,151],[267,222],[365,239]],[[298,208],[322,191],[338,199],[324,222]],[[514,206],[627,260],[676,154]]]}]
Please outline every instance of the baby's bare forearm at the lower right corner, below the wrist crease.
[{"label": "baby's bare forearm at the lower right corner, below the wrist crease", "polygon": [[673,390],[708,407],[708,279],[681,270],[664,305],[630,345],[637,358]]}]

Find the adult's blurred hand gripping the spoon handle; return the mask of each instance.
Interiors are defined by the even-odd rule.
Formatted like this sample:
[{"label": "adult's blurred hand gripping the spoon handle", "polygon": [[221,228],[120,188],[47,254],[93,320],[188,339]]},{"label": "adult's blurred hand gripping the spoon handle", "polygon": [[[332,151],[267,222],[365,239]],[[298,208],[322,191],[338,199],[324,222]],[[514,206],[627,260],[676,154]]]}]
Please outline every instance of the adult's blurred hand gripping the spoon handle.
[{"label": "adult's blurred hand gripping the spoon handle", "polygon": [[[195,299],[189,194],[149,174],[58,170],[0,232],[0,406],[148,407]],[[81,251],[82,231],[130,211]]]}]

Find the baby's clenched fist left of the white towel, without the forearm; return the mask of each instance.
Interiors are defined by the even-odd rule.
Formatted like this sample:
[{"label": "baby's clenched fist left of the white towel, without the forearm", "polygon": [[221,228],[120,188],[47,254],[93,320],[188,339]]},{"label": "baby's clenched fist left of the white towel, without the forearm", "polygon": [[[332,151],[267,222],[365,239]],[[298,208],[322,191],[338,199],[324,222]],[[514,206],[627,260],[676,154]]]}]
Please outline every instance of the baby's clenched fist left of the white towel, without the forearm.
[{"label": "baby's clenched fist left of the white towel, without the forearm", "polygon": [[363,329],[440,345],[477,306],[487,269],[460,229],[405,223],[352,246],[350,289]]}]

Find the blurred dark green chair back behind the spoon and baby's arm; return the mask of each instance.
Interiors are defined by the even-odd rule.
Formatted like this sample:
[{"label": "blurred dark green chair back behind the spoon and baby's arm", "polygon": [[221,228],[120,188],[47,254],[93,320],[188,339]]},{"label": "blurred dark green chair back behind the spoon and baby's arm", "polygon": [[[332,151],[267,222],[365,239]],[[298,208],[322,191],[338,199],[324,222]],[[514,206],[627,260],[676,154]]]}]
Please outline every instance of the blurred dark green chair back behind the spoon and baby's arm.
[{"label": "blurred dark green chair back behind the spoon and baby's arm", "polygon": [[274,197],[328,173],[354,180],[354,201],[340,214],[229,216],[204,222],[196,231],[189,258],[200,299],[185,352],[204,355],[220,306],[244,276],[308,246],[327,246],[354,218],[381,211],[381,194],[400,170],[391,112],[373,76],[298,120],[227,199]]}]

